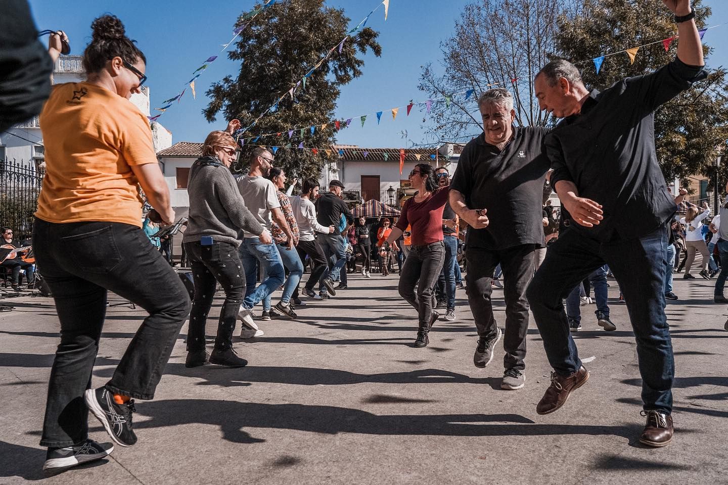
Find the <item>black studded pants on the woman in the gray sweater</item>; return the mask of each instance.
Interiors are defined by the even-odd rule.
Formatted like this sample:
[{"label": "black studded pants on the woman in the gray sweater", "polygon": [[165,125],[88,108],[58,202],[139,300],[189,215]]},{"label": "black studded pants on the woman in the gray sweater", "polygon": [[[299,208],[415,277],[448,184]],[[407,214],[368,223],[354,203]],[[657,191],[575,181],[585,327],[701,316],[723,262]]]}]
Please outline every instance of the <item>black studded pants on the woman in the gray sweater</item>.
[{"label": "black studded pants on the woman in the gray sweater", "polygon": [[219,350],[232,348],[235,318],[245,298],[245,271],[242,269],[237,247],[226,242],[202,246],[198,241],[186,242],[184,247],[194,280],[194,300],[189,314],[187,350],[189,352],[205,350],[207,313],[213,306],[218,281],[225,290],[225,302],[220,310],[215,348]]}]

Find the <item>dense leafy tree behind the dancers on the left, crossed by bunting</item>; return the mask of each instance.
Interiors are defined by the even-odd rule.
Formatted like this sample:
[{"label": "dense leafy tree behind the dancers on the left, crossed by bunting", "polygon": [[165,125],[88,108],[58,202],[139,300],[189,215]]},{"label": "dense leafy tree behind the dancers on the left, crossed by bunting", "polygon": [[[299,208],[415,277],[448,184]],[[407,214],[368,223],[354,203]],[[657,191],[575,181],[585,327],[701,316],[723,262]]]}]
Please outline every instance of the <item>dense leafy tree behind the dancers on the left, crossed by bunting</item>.
[{"label": "dense leafy tree behind the dancers on the left, crossed by bunting", "polygon": [[[244,128],[250,126],[280,94],[301,81],[304,74],[350,30],[344,10],[324,7],[323,0],[279,0],[253,20],[248,20],[249,17],[250,14],[244,13],[235,23],[236,28],[248,22],[250,25],[242,31],[236,48],[228,54],[230,59],[240,61],[240,72],[235,77],[226,76],[207,91],[211,98],[203,110],[207,121],[215,121],[222,114],[226,120],[240,119]],[[339,87],[362,74],[364,61],[360,57],[368,49],[376,56],[381,55],[381,47],[376,41],[378,35],[366,27],[349,33],[341,53],[335,49],[306,79],[305,88],[301,83],[293,99],[286,95],[280,100],[277,111],[267,113],[242,136],[280,132],[280,136],[261,137],[252,145],[285,147],[290,143],[290,148],[276,152],[275,165],[285,169],[289,177],[319,177],[325,164],[336,160],[336,151],[328,156],[323,150],[313,153],[296,147],[303,142],[304,147],[331,148],[336,138],[333,123],[326,129],[317,128],[313,134],[306,128],[303,136],[296,129],[290,139],[288,129],[310,127],[333,119]],[[345,126],[342,123],[341,129]],[[244,150],[237,168],[244,168],[247,159]]]}]

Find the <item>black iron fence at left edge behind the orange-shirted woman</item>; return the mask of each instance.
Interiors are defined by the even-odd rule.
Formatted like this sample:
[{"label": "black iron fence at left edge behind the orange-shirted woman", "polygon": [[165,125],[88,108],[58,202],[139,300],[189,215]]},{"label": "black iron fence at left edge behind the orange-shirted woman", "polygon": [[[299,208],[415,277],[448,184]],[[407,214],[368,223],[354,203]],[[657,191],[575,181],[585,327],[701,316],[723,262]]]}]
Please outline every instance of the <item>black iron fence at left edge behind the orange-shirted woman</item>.
[{"label": "black iron fence at left edge behind the orange-shirted woman", "polygon": [[18,240],[33,232],[42,183],[43,172],[34,163],[0,160],[0,225],[12,228]]}]

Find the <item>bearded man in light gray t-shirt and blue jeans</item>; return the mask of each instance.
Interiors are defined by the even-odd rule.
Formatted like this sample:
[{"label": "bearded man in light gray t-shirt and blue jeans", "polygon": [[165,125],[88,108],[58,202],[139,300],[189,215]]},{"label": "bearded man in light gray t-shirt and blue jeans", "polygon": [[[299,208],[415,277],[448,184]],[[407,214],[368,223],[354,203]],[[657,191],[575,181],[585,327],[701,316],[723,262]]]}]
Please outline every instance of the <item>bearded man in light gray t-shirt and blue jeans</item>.
[{"label": "bearded man in light gray t-shirt and blue jeans", "polygon": [[[288,249],[285,249],[285,251],[292,251],[293,234],[290,233],[288,222],[280,209],[276,188],[270,180],[266,179],[266,176],[270,173],[272,163],[272,153],[265,148],[253,148],[253,153],[250,154],[250,174],[238,178],[237,188],[240,189],[245,206],[248,207],[250,212],[253,213],[253,217],[261,225],[268,231],[271,230],[272,221],[279,225],[288,237]],[[242,267],[245,269],[245,284],[247,286],[245,288],[245,300],[240,305],[239,316],[243,324],[254,328],[250,310],[283,284],[285,273],[278,246],[274,244],[274,241],[271,244],[264,244],[258,236],[247,231],[242,236],[242,244],[240,244],[238,251],[240,252]],[[258,265],[264,270],[265,277],[256,288]]]}]

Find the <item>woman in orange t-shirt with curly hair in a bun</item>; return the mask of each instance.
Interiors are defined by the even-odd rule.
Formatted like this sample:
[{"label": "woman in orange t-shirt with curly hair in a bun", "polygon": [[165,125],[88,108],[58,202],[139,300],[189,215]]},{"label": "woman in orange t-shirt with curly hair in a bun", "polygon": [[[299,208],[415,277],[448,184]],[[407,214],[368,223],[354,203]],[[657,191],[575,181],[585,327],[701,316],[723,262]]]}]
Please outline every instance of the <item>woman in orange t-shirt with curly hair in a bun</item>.
[{"label": "woman in orange t-shirt with curly hair in a bun", "polygon": [[[87,81],[53,87],[40,115],[47,172],[33,248],[60,320],[41,446],[48,446],[44,469],[55,471],[113,450],[88,438],[89,410],[116,444],[135,444],[132,398],[154,396],[190,308],[181,279],[141,229],[139,185],[165,224],[175,219],[149,121],[129,100],[146,79],[145,57],[114,16],[94,20],[92,31]],[[53,52],[60,37],[50,42]],[[107,290],[149,316],[111,380],[88,389]]]}]

